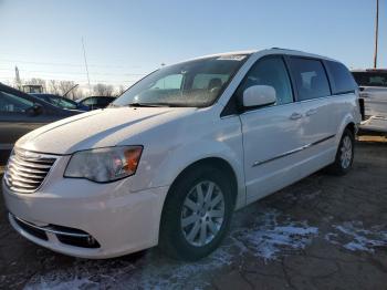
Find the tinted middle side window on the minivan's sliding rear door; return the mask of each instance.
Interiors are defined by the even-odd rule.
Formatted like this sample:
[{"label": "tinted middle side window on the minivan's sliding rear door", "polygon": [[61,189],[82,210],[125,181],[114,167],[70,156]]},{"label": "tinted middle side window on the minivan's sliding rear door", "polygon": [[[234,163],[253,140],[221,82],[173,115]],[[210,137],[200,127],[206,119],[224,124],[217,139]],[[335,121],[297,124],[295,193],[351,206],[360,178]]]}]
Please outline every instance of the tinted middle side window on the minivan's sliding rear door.
[{"label": "tinted middle side window on the minivan's sliding rear door", "polygon": [[290,66],[300,101],[331,95],[330,83],[321,61],[290,58]]}]

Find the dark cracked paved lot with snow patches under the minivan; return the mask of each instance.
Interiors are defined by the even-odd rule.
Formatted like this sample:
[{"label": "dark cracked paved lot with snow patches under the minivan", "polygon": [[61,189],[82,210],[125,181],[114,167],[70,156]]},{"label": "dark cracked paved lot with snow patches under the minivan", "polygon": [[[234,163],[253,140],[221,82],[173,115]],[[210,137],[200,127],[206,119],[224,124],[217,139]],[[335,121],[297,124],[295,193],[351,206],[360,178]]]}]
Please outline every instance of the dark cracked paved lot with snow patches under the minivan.
[{"label": "dark cracked paved lot with snow patches under the minivan", "polygon": [[51,252],[19,237],[0,203],[0,287],[28,289],[387,289],[387,142],[357,146],[346,177],[317,173],[234,215],[209,258],[157,249],[111,260]]}]

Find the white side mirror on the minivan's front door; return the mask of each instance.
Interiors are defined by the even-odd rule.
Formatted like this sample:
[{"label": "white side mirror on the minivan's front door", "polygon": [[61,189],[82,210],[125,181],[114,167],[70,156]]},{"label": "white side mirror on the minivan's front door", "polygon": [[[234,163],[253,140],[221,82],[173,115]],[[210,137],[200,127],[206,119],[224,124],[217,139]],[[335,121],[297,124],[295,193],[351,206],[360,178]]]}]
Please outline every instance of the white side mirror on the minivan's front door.
[{"label": "white side mirror on the minivan's front door", "polygon": [[275,90],[270,85],[252,85],[243,92],[244,107],[272,105],[275,102]]}]

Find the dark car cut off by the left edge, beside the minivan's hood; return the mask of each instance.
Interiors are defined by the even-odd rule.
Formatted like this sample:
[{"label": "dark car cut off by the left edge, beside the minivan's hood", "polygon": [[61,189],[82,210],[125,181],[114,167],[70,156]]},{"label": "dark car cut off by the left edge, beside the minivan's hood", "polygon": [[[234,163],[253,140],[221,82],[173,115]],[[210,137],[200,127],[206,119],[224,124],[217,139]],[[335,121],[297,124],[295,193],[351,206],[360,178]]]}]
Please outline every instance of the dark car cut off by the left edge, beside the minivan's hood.
[{"label": "dark car cut off by the left edge, beside the minivan's hood", "polygon": [[0,163],[22,135],[51,122],[80,114],[0,83]]}]

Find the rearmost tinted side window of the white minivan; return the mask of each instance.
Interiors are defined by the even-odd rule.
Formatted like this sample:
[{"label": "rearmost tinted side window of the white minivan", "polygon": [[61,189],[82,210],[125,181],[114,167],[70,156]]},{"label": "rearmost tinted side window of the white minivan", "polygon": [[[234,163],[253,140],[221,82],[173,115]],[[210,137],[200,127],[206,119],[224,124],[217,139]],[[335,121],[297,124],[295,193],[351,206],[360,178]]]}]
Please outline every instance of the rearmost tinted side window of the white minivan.
[{"label": "rearmost tinted side window of the white minivan", "polygon": [[331,81],[333,94],[349,93],[357,89],[354,77],[344,64],[327,61],[326,65],[332,76]]}]

